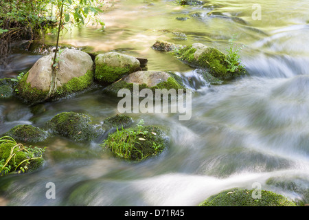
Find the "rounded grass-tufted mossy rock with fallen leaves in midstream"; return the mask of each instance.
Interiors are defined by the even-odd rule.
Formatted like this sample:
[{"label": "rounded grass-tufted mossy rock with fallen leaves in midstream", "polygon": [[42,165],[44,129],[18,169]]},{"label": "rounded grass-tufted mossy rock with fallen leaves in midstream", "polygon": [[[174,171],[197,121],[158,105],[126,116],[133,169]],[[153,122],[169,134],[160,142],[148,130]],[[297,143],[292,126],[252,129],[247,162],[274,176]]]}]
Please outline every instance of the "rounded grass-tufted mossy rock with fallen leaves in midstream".
[{"label": "rounded grass-tufted mossy rock with fallen leaves in midstream", "polygon": [[135,128],[117,129],[115,133],[108,135],[102,147],[110,149],[116,157],[126,160],[141,161],[158,155],[166,145],[163,131],[156,126],[143,124],[144,120],[140,120]]}]

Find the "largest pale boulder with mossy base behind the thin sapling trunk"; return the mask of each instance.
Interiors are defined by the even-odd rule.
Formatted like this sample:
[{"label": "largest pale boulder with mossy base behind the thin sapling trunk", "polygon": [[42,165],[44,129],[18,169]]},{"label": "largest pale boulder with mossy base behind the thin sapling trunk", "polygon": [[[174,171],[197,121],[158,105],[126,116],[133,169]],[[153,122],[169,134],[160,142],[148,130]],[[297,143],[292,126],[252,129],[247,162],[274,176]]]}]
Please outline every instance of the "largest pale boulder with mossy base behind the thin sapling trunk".
[{"label": "largest pale boulder with mossy base behind the thin sapling trunk", "polygon": [[16,88],[19,96],[34,104],[45,100],[57,100],[69,94],[87,89],[93,83],[93,61],[85,52],[65,49],[58,58],[56,90],[49,93],[52,83],[54,54],[38,59],[34,66],[19,80]]}]

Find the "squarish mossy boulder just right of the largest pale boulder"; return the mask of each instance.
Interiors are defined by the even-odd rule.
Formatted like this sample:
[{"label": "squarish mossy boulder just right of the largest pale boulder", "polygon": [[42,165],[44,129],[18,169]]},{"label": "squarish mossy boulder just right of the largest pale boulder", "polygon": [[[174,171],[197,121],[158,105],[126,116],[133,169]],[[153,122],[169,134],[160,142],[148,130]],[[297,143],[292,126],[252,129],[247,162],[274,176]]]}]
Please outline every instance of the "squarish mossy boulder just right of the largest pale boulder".
[{"label": "squarish mossy boulder just right of the largest pale boulder", "polygon": [[140,67],[139,60],[133,56],[108,52],[95,56],[95,80],[111,84],[120,78],[135,72]]}]

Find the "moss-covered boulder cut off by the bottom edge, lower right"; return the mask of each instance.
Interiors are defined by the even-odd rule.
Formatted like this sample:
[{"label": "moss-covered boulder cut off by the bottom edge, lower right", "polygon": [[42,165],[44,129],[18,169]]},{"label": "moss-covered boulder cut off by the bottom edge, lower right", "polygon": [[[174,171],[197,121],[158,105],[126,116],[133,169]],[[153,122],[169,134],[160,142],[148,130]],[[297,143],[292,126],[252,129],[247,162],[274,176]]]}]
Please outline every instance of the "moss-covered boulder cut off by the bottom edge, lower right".
[{"label": "moss-covered boulder cut off by the bottom edge, lower right", "polygon": [[262,190],[261,198],[252,197],[253,190],[232,188],[213,195],[199,206],[296,206],[296,203],[283,195]]}]

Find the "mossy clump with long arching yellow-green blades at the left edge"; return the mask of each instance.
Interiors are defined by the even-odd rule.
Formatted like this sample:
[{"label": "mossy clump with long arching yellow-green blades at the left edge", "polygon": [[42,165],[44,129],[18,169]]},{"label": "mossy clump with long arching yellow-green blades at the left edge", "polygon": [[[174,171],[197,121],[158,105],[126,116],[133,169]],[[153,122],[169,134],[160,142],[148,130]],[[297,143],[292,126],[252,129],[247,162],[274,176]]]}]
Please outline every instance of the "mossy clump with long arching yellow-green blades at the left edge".
[{"label": "mossy clump with long arching yellow-green blades at the left edge", "polygon": [[43,164],[45,148],[23,146],[12,137],[0,138],[0,175],[11,172],[25,173]]}]

